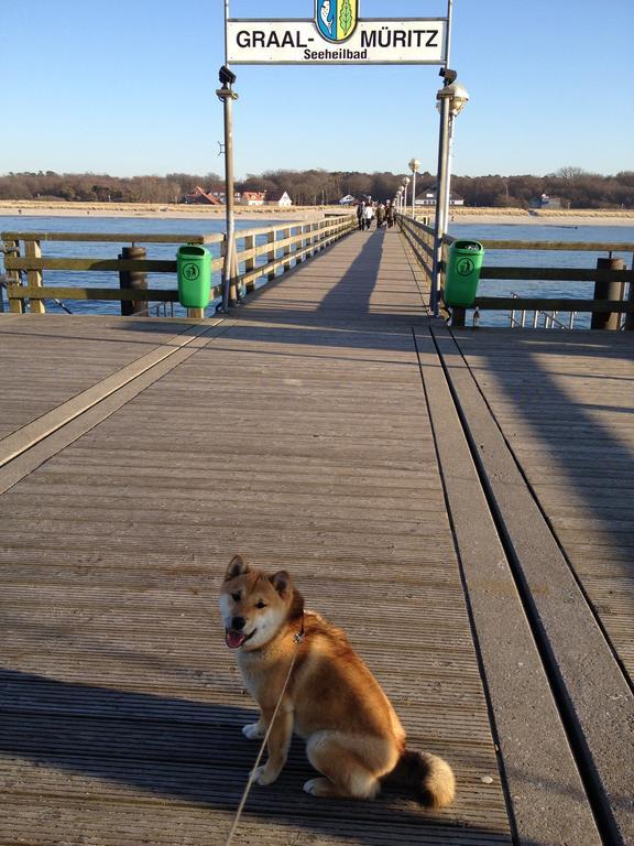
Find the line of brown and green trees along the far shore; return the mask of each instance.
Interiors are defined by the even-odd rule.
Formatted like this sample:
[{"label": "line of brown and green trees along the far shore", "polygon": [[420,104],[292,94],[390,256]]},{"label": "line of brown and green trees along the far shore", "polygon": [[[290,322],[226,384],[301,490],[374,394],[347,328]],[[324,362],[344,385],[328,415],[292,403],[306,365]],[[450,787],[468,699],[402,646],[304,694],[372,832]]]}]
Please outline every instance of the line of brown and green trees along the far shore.
[{"label": "line of brown and green trees along the far shore", "polygon": [[[394,196],[404,175],[387,171],[265,171],[237,181],[236,191],[286,191],[297,206],[332,205],[347,194],[384,200]],[[417,174],[417,195],[433,187],[435,181],[429,172]],[[0,176],[0,199],[183,203],[196,185],[206,191],[223,191],[225,181],[217,173],[131,177],[54,171],[8,173]],[[453,176],[451,188],[467,206],[527,208],[542,194],[548,194],[569,208],[634,208],[634,171],[604,176],[568,166],[547,176]]]}]

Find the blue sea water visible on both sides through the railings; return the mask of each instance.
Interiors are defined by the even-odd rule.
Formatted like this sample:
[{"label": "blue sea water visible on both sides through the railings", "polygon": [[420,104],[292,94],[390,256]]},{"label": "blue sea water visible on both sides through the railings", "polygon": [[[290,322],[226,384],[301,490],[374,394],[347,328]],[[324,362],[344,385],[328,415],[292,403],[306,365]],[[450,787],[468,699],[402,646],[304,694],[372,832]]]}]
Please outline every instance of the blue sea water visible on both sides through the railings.
[{"label": "blue sea water visible on both sides through the railings", "polygon": [[[298,220],[284,220],[266,218],[239,218],[236,221],[238,231],[244,229],[265,228],[295,225]],[[177,243],[144,243],[143,234],[162,235],[203,235],[225,231],[225,220],[208,218],[146,218],[146,217],[31,217],[31,216],[0,216],[1,231],[19,232],[132,232],[139,234],[135,243],[146,247],[149,259],[175,259]],[[599,243],[626,242],[634,243],[634,226],[559,226],[538,224],[460,224],[451,223],[449,234],[456,238],[474,240],[509,240],[509,241],[582,241]],[[266,236],[256,239],[256,243],[264,243]],[[116,259],[121,248],[130,246],[130,241],[121,242],[80,242],[80,241],[42,241],[42,254],[58,258],[102,258]],[[214,257],[220,254],[220,246],[208,246]],[[488,250],[485,264],[491,267],[544,267],[544,268],[595,268],[597,258],[605,257],[606,252],[568,251],[568,250]],[[624,259],[631,267],[632,254],[615,252],[614,257]],[[266,262],[266,257],[260,257],[261,264]],[[86,288],[118,288],[119,274],[116,272],[69,272],[45,271],[45,284]],[[217,273],[214,284],[220,281]],[[262,281],[262,284],[264,280]],[[149,286],[156,289],[175,288],[175,276],[172,273],[153,273],[149,279]],[[504,281],[482,280],[479,292],[482,296],[510,296],[515,293],[521,296],[540,297],[573,297],[591,299],[593,293],[592,282],[539,282],[539,281]],[[74,313],[79,314],[120,314],[119,302],[80,302],[69,301],[67,306]],[[54,303],[48,303],[50,311],[59,311]],[[175,314],[185,314],[184,310],[175,305]],[[468,313],[468,324],[472,319],[472,313]],[[561,317],[567,323],[567,316]],[[509,312],[483,312],[482,326],[509,326]],[[578,328],[590,325],[590,315],[577,315],[575,326]]]}]

